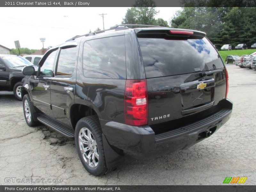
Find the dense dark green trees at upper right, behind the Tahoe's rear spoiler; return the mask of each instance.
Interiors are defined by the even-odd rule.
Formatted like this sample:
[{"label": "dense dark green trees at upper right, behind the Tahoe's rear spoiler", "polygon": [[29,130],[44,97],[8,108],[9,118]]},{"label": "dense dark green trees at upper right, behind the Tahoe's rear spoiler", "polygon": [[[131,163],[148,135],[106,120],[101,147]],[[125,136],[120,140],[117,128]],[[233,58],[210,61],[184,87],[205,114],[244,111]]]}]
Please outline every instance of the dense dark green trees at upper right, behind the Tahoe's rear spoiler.
[{"label": "dense dark green trees at upper right, behind the Tahoe's rear spoiler", "polygon": [[256,42],[255,11],[255,7],[184,7],[176,12],[171,23],[174,28],[206,32],[218,47],[231,44],[234,48],[239,43],[250,46]]}]

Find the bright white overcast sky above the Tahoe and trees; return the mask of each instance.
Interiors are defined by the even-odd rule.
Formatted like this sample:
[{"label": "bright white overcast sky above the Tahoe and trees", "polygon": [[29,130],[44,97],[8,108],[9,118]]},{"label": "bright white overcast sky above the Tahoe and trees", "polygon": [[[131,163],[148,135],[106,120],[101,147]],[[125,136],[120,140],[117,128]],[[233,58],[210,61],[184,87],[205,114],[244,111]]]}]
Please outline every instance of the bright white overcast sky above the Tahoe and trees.
[{"label": "bright white overcast sky above the Tahoe and trees", "polygon": [[[179,7],[157,7],[156,18],[169,22]],[[15,48],[19,40],[21,47],[41,49],[40,37],[45,37],[44,47],[55,46],[67,39],[88,33],[96,28],[103,29],[100,13],[104,16],[105,29],[120,24],[127,7],[1,7],[0,44]]]}]

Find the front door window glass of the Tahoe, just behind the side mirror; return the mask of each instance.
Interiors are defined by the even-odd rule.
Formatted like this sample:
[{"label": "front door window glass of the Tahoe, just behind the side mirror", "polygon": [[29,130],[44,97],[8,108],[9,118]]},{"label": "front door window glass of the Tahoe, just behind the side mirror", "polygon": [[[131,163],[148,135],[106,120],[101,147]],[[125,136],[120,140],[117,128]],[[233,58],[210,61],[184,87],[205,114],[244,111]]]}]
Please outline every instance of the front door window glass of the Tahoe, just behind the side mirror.
[{"label": "front door window glass of the Tahoe, just behind the side mirror", "polygon": [[54,65],[54,59],[56,56],[57,50],[52,52],[44,61],[43,66],[40,68],[40,76],[52,76],[52,68]]}]

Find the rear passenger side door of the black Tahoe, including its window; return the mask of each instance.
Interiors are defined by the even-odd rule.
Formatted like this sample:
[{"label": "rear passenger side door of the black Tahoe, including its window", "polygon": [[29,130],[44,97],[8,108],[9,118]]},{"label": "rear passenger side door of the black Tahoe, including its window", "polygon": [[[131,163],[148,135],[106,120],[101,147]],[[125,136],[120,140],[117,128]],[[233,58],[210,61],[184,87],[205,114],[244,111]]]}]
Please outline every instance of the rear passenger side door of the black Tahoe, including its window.
[{"label": "rear passenger side door of the black Tahoe, including its window", "polygon": [[70,106],[74,103],[77,47],[61,49],[51,78],[52,112],[55,119],[70,126]]}]

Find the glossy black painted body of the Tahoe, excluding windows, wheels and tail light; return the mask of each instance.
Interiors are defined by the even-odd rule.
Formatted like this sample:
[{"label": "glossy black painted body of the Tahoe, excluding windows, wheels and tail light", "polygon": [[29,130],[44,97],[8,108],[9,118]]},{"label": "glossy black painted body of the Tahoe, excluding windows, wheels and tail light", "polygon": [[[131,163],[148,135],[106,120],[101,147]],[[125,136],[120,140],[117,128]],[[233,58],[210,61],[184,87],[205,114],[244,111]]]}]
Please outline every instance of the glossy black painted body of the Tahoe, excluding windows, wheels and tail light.
[{"label": "glossy black painted body of the Tahoe, excluding windows, wheels and tail light", "polygon": [[[28,93],[39,113],[52,117],[56,124],[65,124],[72,131],[75,129],[72,109],[77,105],[86,106],[99,117],[107,143],[132,152],[147,153],[160,144],[169,146],[172,150],[185,148],[209,136],[207,134],[210,134],[210,130],[212,134],[219,129],[228,120],[232,111],[232,103],[225,99],[224,65],[221,69],[212,70],[208,75],[195,72],[147,78],[148,125],[137,127],[124,123],[126,79],[146,79],[136,36],[140,30],[120,30],[74,40],[79,51],[73,76],[26,76],[22,97]],[[84,43],[108,36],[125,38],[126,78],[85,77]],[[59,52],[58,47],[53,49]],[[47,53],[45,55],[47,56]],[[52,69],[54,74],[57,57],[58,53]],[[44,60],[45,58],[42,58],[40,63],[42,64]],[[223,61],[221,62],[223,64]],[[197,85],[202,82],[206,87],[200,90]],[[49,85],[49,89],[45,90],[43,85]],[[63,87],[67,86],[72,87],[73,91],[65,92]],[[198,98],[203,98],[203,101]],[[200,124],[196,124],[197,122]]]}]

